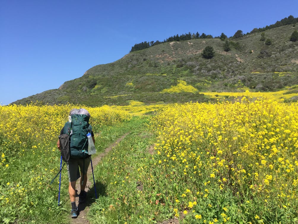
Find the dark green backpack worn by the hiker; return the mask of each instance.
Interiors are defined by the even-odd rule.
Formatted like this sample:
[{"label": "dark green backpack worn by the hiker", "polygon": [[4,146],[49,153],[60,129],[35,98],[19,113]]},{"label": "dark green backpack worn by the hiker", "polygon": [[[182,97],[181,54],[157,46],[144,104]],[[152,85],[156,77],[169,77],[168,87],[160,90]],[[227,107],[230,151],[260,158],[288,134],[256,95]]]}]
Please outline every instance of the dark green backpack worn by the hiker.
[{"label": "dark green backpack worn by the hiker", "polygon": [[89,116],[85,114],[73,114],[71,122],[66,122],[63,128],[64,134],[70,136],[70,157],[86,158],[88,157],[88,139],[87,134],[92,130],[89,125]]}]

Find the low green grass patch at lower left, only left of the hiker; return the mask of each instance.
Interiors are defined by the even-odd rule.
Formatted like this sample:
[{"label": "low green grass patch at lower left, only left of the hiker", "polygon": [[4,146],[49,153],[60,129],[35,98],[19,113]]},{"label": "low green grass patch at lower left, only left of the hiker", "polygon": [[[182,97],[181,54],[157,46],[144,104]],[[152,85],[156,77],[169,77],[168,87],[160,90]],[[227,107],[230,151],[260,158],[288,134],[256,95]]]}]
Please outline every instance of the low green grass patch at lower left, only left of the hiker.
[{"label": "low green grass patch at lower left, only left of the hiker", "polygon": [[53,143],[47,149],[32,148],[6,158],[9,166],[0,174],[3,223],[64,223],[66,195],[61,194],[62,206],[58,207],[57,181],[49,185],[60,165],[58,150],[52,151],[55,148]]}]

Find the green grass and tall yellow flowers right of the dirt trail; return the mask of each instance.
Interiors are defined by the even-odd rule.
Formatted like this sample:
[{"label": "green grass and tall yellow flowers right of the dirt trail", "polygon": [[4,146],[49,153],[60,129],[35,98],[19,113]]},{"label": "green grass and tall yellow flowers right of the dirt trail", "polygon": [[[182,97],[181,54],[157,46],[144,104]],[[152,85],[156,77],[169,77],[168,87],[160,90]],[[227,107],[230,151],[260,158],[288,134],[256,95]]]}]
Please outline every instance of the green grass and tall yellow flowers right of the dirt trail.
[{"label": "green grass and tall yellow flowers right of the dirt trail", "polygon": [[90,223],[297,223],[297,107],[243,98],[164,109],[97,166]]}]

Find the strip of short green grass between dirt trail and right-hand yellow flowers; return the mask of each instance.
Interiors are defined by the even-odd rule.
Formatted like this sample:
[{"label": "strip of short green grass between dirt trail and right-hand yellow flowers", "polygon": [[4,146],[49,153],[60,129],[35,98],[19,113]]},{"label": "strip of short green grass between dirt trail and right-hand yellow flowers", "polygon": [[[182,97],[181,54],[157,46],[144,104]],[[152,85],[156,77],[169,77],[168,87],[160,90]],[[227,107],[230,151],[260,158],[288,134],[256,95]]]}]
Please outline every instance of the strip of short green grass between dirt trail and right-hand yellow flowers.
[{"label": "strip of short green grass between dirt trail and right-hand yellow flowers", "polygon": [[172,215],[168,206],[153,206],[154,186],[145,188],[151,182],[148,170],[154,169],[149,151],[155,136],[148,122],[148,117],[135,119],[130,134],[94,170],[100,190],[89,210],[90,223],[156,223]]}]

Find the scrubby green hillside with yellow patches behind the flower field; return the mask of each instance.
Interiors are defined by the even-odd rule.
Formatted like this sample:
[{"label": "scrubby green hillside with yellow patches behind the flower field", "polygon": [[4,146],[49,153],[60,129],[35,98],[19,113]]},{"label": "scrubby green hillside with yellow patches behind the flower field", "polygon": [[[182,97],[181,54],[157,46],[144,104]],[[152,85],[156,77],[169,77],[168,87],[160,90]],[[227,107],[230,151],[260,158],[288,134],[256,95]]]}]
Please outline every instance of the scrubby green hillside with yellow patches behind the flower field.
[{"label": "scrubby green hillside with yellow patches behind the flower field", "polygon": [[[224,51],[220,39],[192,39],[162,43],[134,51],[116,62],[97,65],[59,89],[13,103],[42,101],[45,104],[80,103],[88,106],[125,105],[128,100],[156,102],[205,102],[204,92],[277,91],[298,92],[298,42],[289,40],[298,26],[285,25],[261,33],[228,39]],[[206,46],[215,56],[204,59]],[[292,87],[292,88],[289,88]],[[181,91],[181,92],[179,92]],[[211,99],[212,100],[212,99]]]}]

